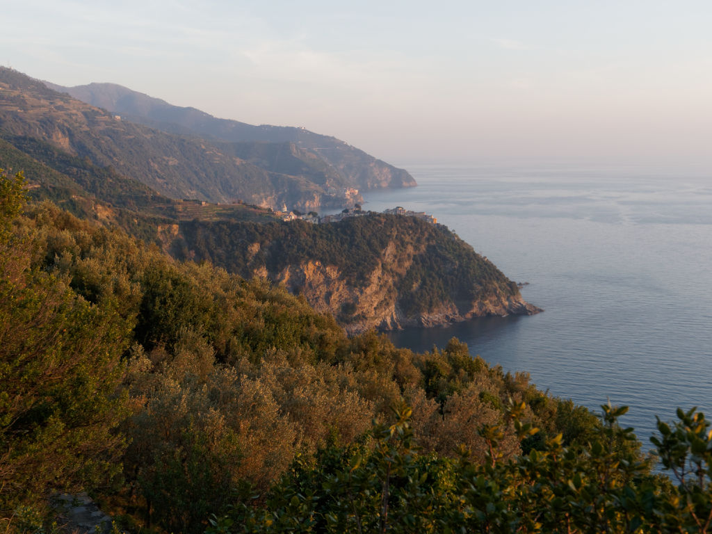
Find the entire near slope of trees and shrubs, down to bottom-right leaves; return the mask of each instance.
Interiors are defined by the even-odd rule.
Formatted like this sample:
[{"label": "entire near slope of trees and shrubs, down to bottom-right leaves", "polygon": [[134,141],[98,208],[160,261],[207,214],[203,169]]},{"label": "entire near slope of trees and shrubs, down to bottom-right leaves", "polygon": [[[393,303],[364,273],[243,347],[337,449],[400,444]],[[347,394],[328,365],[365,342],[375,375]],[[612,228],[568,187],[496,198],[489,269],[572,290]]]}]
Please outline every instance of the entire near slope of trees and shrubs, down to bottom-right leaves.
[{"label": "entire near slope of trees and shrubs, down to bottom-right leaves", "polygon": [[709,531],[702,414],[659,423],[656,476],[624,409],[600,421],[456,340],[347,338],[282,288],[23,197],[0,175],[5,532],[58,531],[51,496],[80,489],[131,532]]}]

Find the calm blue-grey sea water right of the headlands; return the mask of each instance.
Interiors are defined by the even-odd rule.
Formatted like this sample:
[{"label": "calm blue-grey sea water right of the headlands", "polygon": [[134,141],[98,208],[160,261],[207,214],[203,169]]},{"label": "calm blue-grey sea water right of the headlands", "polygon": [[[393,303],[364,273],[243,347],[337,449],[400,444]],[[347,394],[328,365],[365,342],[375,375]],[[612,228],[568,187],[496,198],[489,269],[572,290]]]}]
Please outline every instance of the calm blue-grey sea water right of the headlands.
[{"label": "calm blue-grey sea water right of the headlands", "polygon": [[596,412],[630,407],[647,448],[656,415],[712,407],[712,174],[595,167],[408,167],[414,189],[365,209],[433,214],[512,280],[532,317],[390,335],[429,350],[453,336],[491,365]]}]

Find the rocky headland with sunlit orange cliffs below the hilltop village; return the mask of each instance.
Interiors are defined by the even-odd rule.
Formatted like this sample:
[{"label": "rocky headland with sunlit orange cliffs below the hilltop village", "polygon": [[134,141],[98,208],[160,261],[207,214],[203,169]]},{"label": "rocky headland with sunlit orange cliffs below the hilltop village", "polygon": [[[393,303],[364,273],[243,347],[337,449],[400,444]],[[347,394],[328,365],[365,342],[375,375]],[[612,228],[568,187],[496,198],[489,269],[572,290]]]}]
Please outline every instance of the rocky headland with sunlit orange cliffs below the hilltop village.
[{"label": "rocky headland with sunlit orange cliffs below the hilltop village", "polygon": [[540,311],[471,246],[414,217],[374,214],[320,225],[185,221],[180,239],[172,250],[280,283],[349,333]]}]

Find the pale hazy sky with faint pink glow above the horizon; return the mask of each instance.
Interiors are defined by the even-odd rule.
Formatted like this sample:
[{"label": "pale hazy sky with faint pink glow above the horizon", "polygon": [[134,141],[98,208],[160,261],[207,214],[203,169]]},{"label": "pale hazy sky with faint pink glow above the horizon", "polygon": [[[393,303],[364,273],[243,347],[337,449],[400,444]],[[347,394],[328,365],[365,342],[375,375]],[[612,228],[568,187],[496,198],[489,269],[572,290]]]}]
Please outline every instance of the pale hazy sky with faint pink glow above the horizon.
[{"label": "pale hazy sky with faint pink glow above the horizon", "polygon": [[[0,63],[395,164],[709,165],[712,2],[5,2]],[[347,4],[352,4],[348,6]]]}]

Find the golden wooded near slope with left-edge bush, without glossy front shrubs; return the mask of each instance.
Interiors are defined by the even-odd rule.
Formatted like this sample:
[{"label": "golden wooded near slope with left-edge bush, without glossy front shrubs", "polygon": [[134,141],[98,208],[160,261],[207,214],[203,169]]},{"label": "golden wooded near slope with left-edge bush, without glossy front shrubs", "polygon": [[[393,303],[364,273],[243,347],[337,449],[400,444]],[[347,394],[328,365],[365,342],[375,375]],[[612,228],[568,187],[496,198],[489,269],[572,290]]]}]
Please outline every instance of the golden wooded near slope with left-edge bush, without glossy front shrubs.
[{"label": "golden wooded near slope with left-edge bush, without glossy front shrubs", "polygon": [[266,281],[177,263],[53,204],[20,215],[21,182],[0,179],[5,526],[53,491],[93,488],[136,521],[199,532],[239,488],[266,491],[296,456],[355,442],[399,399],[443,454],[462,441],[483,457],[475,422],[502,421],[508,397],[548,433],[575,440],[591,424],[459,342],[414,355],[350,339]]}]

